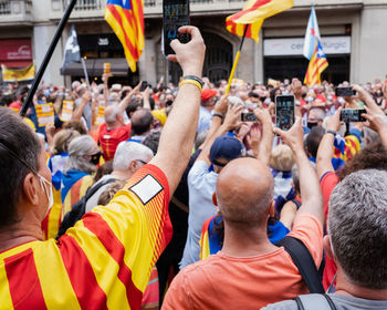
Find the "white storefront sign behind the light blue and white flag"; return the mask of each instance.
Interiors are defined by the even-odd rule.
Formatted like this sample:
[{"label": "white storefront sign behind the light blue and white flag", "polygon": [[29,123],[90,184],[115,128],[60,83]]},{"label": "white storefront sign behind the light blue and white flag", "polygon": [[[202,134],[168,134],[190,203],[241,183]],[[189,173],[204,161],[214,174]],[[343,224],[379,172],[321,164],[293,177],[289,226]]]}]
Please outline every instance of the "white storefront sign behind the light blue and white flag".
[{"label": "white storefront sign behind the light blue and white flag", "polygon": [[[325,54],[349,54],[351,37],[322,38]],[[304,38],[266,39],[263,41],[263,54],[265,56],[302,55]]]}]

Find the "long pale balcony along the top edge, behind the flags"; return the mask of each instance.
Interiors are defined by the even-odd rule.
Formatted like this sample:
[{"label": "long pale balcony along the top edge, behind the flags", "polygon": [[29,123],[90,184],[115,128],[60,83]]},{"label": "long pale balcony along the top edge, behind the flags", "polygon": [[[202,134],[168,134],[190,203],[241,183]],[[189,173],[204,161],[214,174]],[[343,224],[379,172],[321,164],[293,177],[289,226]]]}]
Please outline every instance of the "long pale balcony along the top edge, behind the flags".
[{"label": "long pale balcony along the top edge, behind the flags", "polygon": [[[0,0],[1,1],[1,0]],[[60,19],[69,0],[51,0],[51,19]],[[242,9],[247,0],[190,0],[191,16],[228,14]],[[71,19],[98,20],[104,16],[107,0],[77,0]],[[145,18],[161,18],[163,0],[144,0]]]}]

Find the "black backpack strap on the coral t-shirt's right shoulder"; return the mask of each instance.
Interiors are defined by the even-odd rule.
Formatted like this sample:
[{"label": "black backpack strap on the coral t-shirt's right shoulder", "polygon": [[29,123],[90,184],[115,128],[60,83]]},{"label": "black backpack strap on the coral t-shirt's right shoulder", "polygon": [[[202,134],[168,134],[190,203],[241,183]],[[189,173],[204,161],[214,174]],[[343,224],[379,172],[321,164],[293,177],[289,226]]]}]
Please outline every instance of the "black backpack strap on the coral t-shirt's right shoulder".
[{"label": "black backpack strap on the coral t-shirt's right shoulder", "polygon": [[297,267],[300,275],[304,279],[311,293],[325,292],[313,257],[301,240],[286,236],[275,245],[278,247],[282,246],[285,248],[294,265]]}]

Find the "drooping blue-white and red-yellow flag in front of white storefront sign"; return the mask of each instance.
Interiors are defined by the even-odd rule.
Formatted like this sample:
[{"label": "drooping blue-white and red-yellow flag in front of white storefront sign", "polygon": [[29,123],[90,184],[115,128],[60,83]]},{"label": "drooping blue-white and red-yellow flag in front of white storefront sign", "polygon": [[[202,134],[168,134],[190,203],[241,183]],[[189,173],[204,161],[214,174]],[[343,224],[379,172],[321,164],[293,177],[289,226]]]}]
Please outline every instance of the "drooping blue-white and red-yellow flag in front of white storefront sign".
[{"label": "drooping blue-white and red-yellow flag in front of white storefront sign", "polygon": [[321,74],[328,66],[328,62],[321,43],[317,17],[314,7],[312,7],[310,20],[307,22],[304,41],[304,56],[310,60],[304,84],[308,86],[321,84]]}]

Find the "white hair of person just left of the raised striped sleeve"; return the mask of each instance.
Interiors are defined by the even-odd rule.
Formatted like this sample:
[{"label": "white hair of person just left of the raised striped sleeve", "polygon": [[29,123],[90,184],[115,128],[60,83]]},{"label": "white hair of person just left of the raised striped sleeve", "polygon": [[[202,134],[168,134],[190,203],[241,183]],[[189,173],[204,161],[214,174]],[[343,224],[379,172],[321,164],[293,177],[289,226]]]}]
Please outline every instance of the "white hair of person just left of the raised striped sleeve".
[{"label": "white hair of person just left of the raised striped sleeve", "polygon": [[124,141],[118,144],[113,159],[114,170],[127,170],[132,161],[148,162],[153,157],[153,151],[144,144]]}]

